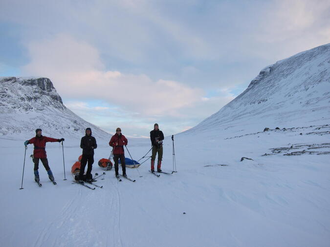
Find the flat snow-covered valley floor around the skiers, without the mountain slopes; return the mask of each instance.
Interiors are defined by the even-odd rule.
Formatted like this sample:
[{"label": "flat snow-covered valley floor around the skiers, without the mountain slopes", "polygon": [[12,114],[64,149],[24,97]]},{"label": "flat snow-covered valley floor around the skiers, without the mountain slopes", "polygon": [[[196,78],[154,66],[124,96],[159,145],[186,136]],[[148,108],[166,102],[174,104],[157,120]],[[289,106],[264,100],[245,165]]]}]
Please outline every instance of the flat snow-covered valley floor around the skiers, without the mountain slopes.
[{"label": "flat snow-covered valley floor around the skiers, without the mountain slopes", "polygon": [[[329,126],[328,129],[329,131]],[[71,184],[70,167],[81,154],[79,140],[65,141],[66,181],[60,144],[47,144],[58,185],[43,167],[43,187],[33,181],[33,164],[21,173],[23,140],[0,139],[3,169],[3,246],[329,246],[330,166],[328,155],[262,156],[291,144],[329,143],[328,135],[261,132],[224,140],[221,133],[175,136],[176,168],[159,178],[150,162],[128,169],[135,183],[118,182],[113,171],[98,180],[103,188]],[[302,133],[302,135],[300,135]],[[233,135],[234,137],[235,135]],[[57,138],[57,137],[56,137]],[[196,142],[196,140],[208,142]],[[98,140],[97,161],[110,155]],[[133,159],[149,150],[149,140],[129,139]],[[329,147],[326,147],[330,151]],[[128,156],[128,154],[126,154]],[[252,158],[243,160],[242,157]],[[164,142],[163,169],[173,168],[172,141]],[[185,212],[185,214],[183,214]]]}]

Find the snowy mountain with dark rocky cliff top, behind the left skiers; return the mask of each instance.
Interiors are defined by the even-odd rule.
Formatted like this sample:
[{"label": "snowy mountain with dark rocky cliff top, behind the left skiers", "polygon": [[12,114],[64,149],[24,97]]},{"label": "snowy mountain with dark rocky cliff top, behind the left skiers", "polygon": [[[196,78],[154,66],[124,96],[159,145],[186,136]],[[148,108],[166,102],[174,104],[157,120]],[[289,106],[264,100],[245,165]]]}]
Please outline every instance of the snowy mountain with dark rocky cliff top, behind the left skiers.
[{"label": "snowy mountain with dark rocky cliff top, behind the left skiers", "polygon": [[44,135],[78,138],[91,127],[94,136],[110,137],[67,109],[48,78],[0,78],[0,99],[0,135],[33,136],[41,128]]}]

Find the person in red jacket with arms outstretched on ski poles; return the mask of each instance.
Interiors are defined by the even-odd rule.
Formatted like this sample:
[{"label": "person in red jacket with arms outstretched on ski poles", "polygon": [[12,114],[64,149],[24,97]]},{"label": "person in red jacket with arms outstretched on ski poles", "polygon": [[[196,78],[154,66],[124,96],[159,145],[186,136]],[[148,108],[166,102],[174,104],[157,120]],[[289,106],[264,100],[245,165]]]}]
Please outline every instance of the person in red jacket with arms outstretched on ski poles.
[{"label": "person in red jacket with arms outstretched on ski poles", "polygon": [[46,169],[48,173],[48,177],[51,181],[54,181],[54,176],[53,173],[48,165],[48,160],[47,160],[47,154],[46,154],[46,143],[54,143],[54,142],[62,142],[64,141],[64,138],[61,139],[54,139],[50,137],[46,137],[42,135],[42,130],[41,129],[36,129],[36,137],[33,137],[32,139],[25,141],[24,145],[27,146],[27,144],[34,144],[34,150],[33,150],[33,162],[34,162],[34,180],[39,183],[39,160],[44,165],[44,168]]}]

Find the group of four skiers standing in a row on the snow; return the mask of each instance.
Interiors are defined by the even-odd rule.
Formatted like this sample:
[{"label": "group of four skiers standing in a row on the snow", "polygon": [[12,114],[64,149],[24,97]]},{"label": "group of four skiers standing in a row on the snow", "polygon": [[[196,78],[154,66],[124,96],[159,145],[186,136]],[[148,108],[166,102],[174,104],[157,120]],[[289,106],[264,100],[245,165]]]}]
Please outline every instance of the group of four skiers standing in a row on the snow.
[{"label": "group of four skiers standing in a row on the snow", "polygon": [[[33,163],[34,163],[34,176],[35,181],[39,183],[39,160],[44,165],[44,168],[46,169],[48,173],[49,179],[54,182],[54,176],[53,173],[48,165],[47,155],[45,146],[47,142],[63,142],[65,139],[54,139],[50,137],[46,137],[42,135],[41,129],[36,129],[36,136],[31,138],[28,141],[24,142],[25,147],[28,144],[34,144],[34,150],[33,150]],[[154,129],[150,131],[150,140],[152,144],[152,157],[151,157],[151,172],[154,173],[154,161],[156,158],[156,155],[158,154],[158,161],[157,161],[157,172],[161,172],[161,161],[163,158],[163,140],[164,140],[164,134],[161,130],[158,128],[158,123],[154,124]],[[114,161],[114,170],[115,170],[115,176],[119,178],[119,159],[122,166],[122,174],[124,177],[127,177],[126,175],[126,165],[125,165],[125,150],[124,146],[128,144],[128,140],[126,137],[121,133],[121,128],[116,128],[116,133],[111,137],[109,145],[112,147],[112,154],[113,154],[113,161]],[[79,178],[78,180],[82,182],[84,180],[84,172],[85,167],[87,167],[86,171],[86,181],[90,182],[92,181],[92,165],[94,163],[94,149],[97,148],[96,139],[92,136],[92,131],[90,128],[87,128],[85,131],[85,136],[81,138],[80,147],[83,149],[82,159],[81,159],[81,166],[80,166],[80,172],[79,172]]]}]

